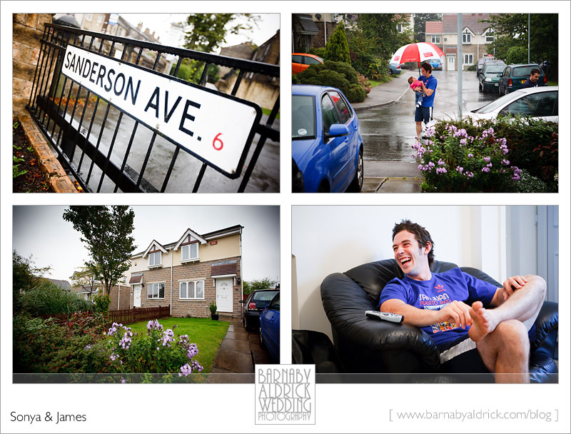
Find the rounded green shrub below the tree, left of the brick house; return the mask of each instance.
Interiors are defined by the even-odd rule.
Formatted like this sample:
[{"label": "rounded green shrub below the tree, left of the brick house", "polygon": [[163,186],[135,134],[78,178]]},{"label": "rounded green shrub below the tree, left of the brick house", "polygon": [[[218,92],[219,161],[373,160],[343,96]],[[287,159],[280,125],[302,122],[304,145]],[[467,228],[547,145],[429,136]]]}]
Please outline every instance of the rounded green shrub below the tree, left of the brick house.
[{"label": "rounded green shrub below the tree, left of the brick house", "polygon": [[36,316],[71,314],[94,308],[91,301],[81,300],[76,293],[64,291],[50,281],[41,281],[31,290],[22,293],[20,301],[25,311]]}]

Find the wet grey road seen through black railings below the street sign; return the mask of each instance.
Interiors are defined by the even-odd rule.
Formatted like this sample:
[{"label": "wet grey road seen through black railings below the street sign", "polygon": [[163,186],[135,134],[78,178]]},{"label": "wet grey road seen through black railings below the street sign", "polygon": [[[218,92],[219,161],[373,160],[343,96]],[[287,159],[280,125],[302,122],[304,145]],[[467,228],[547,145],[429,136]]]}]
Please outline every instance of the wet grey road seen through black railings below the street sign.
[{"label": "wet grey road seen through black railings below the street sign", "polygon": [[[97,143],[97,141],[99,141],[99,150],[107,155],[111,142],[113,141],[113,135],[116,134],[116,139],[111,151],[111,161],[115,163],[116,166],[121,167],[136,121],[129,116],[121,116],[117,109],[111,107],[106,117],[106,126],[103,129],[103,134],[101,135],[101,138],[99,138],[101,125],[103,124],[103,120],[106,115],[106,109],[106,104],[101,102],[98,104],[94,123],[93,126],[91,126],[91,131],[89,132],[89,138],[92,143]],[[74,114],[76,121],[80,121],[82,111],[83,107],[76,110],[76,113]],[[94,104],[88,104],[86,116],[84,116],[84,120],[81,123],[84,136],[86,136],[89,131],[91,123],[90,115],[93,111]],[[68,113],[71,113],[71,109],[68,110]],[[265,123],[266,119],[267,116],[263,115],[261,123]],[[276,119],[274,126],[277,129],[280,128],[279,119]],[[134,179],[138,178],[138,173],[140,173],[143,168],[143,162],[145,160],[146,153],[148,152],[149,143],[151,143],[152,137],[153,131],[142,124],[138,124],[136,133],[133,136],[131,149],[128,152],[128,158],[126,159],[126,171],[130,173]],[[258,143],[258,138],[259,135],[256,134],[250,150],[248,151],[246,164],[251,160],[253,151]],[[156,136],[143,175],[143,178],[146,181],[146,186],[150,184],[157,191],[161,191],[161,187],[163,186],[163,181],[173,159],[175,149],[176,146],[174,146],[173,143],[167,141],[161,136]],[[92,164],[89,156],[85,155],[82,158],[81,155],[81,149],[77,148],[74,154],[74,163],[76,166],[80,167],[81,176],[84,179],[89,178],[88,185],[93,189],[93,191],[98,191],[101,183],[100,191],[102,193],[113,192],[115,188],[114,183],[106,176],[103,176],[103,181],[101,181],[101,169],[95,164]],[[202,162],[197,158],[185,151],[180,151],[176,158],[176,163],[173,166],[171,177],[168,180],[166,193],[191,193],[201,166]],[[244,173],[244,171],[242,171],[242,173]],[[206,172],[204,173],[198,192],[236,193],[241,180],[242,177],[238,179],[229,179],[213,168],[206,168]],[[246,186],[246,192],[256,193],[278,191],[280,191],[280,146],[279,143],[267,140],[262,148],[250,181]]]}]

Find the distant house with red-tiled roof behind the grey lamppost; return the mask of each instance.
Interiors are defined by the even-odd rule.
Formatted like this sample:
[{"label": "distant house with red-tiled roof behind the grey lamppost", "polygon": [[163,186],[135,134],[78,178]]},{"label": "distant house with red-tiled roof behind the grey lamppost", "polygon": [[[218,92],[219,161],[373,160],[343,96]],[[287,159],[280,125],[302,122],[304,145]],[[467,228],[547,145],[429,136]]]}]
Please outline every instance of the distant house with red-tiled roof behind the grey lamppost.
[{"label": "distant house with red-tiled roof behind the grey lamppost", "polygon": [[[462,57],[463,69],[477,64],[482,57],[492,56],[490,44],[495,33],[490,24],[482,20],[490,19],[490,14],[462,15]],[[441,24],[438,24],[438,23]],[[446,56],[446,70],[458,70],[458,14],[443,14],[442,21],[427,21],[426,40],[438,45]],[[435,42],[440,39],[440,43]]]}]

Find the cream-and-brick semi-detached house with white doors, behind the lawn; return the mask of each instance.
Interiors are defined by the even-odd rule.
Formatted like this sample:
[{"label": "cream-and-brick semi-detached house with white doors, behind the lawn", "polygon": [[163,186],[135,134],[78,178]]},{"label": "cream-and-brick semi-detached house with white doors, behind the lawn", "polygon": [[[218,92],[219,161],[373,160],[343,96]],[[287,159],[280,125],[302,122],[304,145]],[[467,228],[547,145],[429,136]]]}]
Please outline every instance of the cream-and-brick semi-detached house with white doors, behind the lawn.
[{"label": "cream-and-brick semi-detached house with white doors, behind the lawn", "polygon": [[177,241],[153,239],[131,256],[131,306],[171,306],[171,316],[208,317],[215,302],[221,317],[240,318],[242,229],[209,233],[186,229]]}]

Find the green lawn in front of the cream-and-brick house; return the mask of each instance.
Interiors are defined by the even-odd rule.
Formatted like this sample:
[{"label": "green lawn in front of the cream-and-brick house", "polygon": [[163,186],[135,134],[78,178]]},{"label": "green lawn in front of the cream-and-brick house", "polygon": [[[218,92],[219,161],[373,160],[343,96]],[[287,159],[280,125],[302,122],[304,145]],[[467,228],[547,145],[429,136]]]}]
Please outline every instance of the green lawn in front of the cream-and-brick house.
[{"label": "green lawn in front of the cream-and-brick house", "polygon": [[[146,335],[147,322],[141,321],[134,324],[129,324],[133,332],[138,335]],[[198,355],[196,360],[203,365],[204,370],[202,373],[209,373],[212,369],[214,357],[218,351],[218,347],[222,343],[228,326],[231,324],[228,321],[212,321],[210,318],[163,318],[158,320],[163,329],[173,328],[175,335],[188,335],[191,343],[198,345]]]}]

